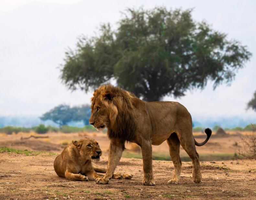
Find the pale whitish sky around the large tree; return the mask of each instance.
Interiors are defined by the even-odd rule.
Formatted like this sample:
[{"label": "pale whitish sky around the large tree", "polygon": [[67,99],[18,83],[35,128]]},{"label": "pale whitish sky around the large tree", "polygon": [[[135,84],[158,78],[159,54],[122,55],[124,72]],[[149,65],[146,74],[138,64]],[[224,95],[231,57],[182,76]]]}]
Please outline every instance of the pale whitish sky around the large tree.
[{"label": "pale whitish sky around the large tree", "polygon": [[61,84],[60,64],[77,37],[92,36],[100,23],[112,25],[127,7],[194,8],[193,18],[247,45],[253,56],[231,86],[164,100],[178,101],[192,117],[255,117],[246,104],[256,90],[256,1],[82,1],[0,0],[0,116],[42,115],[56,105],[90,103],[92,91],[69,91]]}]

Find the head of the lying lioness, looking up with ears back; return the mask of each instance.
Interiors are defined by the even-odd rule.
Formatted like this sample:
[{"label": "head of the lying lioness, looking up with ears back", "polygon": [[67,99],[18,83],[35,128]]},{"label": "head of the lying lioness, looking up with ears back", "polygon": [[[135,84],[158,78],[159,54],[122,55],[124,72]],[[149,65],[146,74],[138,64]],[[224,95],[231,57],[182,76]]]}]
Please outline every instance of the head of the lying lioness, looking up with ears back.
[{"label": "head of the lying lioness, looking up with ears back", "polygon": [[72,141],[73,145],[79,150],[80,155],[85,159],[99,159],[102,155],[99,144],[96,140],[84,137],[79,141]]}]

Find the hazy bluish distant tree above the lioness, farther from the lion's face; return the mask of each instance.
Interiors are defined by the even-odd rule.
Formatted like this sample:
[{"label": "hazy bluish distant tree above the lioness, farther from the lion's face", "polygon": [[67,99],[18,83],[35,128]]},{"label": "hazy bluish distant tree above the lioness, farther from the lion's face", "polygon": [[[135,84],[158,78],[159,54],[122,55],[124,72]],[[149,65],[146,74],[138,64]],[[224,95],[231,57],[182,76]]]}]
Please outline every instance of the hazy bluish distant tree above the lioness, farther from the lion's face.
[{"label": "hazy bluish distant tree above the lioness, farther from the lion's face", "polygon": [[69,105],[59,105],[51,109],[49,112],[43,114],[40,119],[43,121],[51,120],[56,124],[62,126],[71,122],[74,116],[74,110]]}]

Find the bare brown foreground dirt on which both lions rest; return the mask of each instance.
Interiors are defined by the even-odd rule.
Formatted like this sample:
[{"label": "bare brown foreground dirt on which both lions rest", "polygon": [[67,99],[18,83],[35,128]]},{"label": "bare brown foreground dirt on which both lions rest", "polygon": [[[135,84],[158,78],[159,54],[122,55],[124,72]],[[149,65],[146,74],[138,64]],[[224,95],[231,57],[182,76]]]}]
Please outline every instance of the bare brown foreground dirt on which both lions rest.
[{"label": "bare brown foreground dirt on which both lions rest", "polygon": [[[117,172],[132,173],[131,180],[68,181],[53,169],[55,156],[0,153],[0,199],[256,199],[255,160],[201,162],[203,182],[192,179],[192,163],[183,162],[180,183],[168,185],[171,161],[153,161],[156,185],[141,184],[142,160],[121,158]],[[100,165],[107,164],[102,156]]]}]

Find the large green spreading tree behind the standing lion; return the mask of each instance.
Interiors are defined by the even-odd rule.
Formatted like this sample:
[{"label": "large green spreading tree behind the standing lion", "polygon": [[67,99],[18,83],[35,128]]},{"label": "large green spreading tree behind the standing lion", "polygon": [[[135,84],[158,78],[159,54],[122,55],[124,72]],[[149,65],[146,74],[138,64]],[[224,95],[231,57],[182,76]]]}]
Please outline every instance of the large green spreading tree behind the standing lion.
[{"label": "large green spreading tree behind the standing lion", "polygon": [[102,25],[97,36],[81,37],[66,52],[61,79],[71,90],[94,89],[114,78],[146,101],[183,96],[214,82],[230,84],[250,59],[246,46],[195,22],[192,10],[128,9],[115,30]]}]

